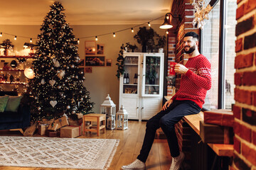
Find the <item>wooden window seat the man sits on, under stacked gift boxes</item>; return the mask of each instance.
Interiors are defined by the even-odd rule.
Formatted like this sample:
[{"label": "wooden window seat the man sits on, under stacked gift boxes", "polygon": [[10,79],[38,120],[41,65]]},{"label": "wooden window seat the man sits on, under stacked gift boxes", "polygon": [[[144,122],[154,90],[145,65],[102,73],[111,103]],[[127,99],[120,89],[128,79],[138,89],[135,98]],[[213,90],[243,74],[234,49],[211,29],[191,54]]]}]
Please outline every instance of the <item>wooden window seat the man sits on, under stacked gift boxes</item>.
[{"label": "wooden window seat the man sits on, under stacked gift boxes", "polygon": [[[183,118],[193,130],[200,135],[200,120],[203,120],[203,112],[196,115],[186,115]],[[208,144],[209,147],[220,157],[233,157],[233,145]]]}]

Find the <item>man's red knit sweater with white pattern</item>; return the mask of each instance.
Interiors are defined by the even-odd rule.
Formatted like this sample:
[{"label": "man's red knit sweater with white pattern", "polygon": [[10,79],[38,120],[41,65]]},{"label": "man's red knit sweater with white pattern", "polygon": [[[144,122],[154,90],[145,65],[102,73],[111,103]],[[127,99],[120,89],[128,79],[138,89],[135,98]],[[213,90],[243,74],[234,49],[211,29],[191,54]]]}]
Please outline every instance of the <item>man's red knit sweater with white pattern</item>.
[{"label": "man's red knit sweater with white pattern", "polygon": [[210,62],[203,55],[188,59],[185,67],[188,72],[181,76],[181,86],[172,100],[194,101],[199,107],[203,107],[206,92],[211,86]]}]

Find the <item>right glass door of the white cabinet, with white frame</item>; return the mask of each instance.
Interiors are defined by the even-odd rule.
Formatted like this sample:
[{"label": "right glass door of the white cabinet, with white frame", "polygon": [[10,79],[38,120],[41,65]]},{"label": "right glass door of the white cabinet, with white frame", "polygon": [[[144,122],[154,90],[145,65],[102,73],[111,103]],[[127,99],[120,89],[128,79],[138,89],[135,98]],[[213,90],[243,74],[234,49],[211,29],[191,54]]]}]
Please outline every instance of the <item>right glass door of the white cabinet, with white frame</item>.
[{"label": "right glass door of the white cabinet, with white frame", "polygon": [[161,74],[161,55],[145,54],[143,61],[142,96],[160,95]]}]

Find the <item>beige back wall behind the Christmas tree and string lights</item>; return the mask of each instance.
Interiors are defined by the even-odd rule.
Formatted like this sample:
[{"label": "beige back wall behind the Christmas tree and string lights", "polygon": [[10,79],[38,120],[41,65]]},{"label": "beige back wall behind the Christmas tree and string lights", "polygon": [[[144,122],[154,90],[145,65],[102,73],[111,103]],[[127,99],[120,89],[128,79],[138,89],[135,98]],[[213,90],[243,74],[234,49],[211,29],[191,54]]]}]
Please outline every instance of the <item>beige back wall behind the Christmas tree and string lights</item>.
[{"label": "beige back wall behind the Christmas tree and string lights", "polygon": [[[145,25],[146,26],[146,25]],[[98,36],[98,44],[105,45],[105,59],[112,59],[111,67],[92,67],[92,73],[85,74],[85,86],[90,91],[91,100],[95,102],[93,111],[95,113],[100,112],[100,104],[105,100],[107,94],[110,94],[112,101],[117,105],[119,101],[119,81],[115,76],[117,72],[117,56],[119,54],[120,46],[122,43],[130,42],[139,47],[138,52],[142,51],[142,47],[138,45],[133,36],[137,33],[139,28],[134,28],[134,33],[129,30],[124,30],[119,33],[115,33],[116,37],[113,38],[112,33],[117,30],[125,28],[132,28],[132,25],[122,26],[71,26],[76,38],[80,38],[80,44],[78,45],[78,53],[81,59],[85,59],[85,40],[95,40],[95,38],[81,39],[82,37],[95,36],[105,33],[111,33],[110,35]],[[156,33],[164,35],[165,30],[161,30],[159,25],[151,26]],[[3,37],[0,38],[0,42],[9,38],[14,44],[14,50],[23,50],[23,43],[29,42],[29,38],[36,38],[40,33],[41,26],[0,26],[0,32],[3,32]],[[6,35],[4,33],[17,35],[17,40],[14,40],[14,36]]]}]

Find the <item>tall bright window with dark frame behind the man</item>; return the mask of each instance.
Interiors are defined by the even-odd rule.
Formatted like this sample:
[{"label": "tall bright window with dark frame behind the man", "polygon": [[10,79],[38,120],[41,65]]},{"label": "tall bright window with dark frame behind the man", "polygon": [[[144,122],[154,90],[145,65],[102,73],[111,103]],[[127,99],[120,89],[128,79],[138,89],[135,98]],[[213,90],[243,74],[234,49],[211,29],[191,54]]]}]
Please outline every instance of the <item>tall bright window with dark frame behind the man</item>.
[{"label": "tall bright window with dark frame behind the man", "polygon": [[[201,31],[202,54],[211,63],[212,88],[203,108],[230,109],[234,101],[236,0],[211,0],[214,6]],[[214,5],[213,5],[214,4]]]}]

